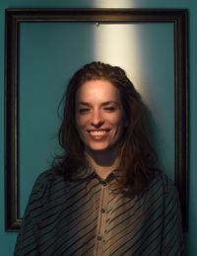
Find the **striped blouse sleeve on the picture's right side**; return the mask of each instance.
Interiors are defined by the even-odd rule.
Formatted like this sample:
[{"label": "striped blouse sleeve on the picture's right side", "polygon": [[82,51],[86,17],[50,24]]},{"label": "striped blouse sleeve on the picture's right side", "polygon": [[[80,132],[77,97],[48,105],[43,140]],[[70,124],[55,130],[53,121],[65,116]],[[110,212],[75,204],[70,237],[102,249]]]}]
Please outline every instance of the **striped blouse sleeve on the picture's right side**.
[{"label": "striped blouse sleeve on the picture's right side", "polygon": [[184,255],[178,192],[172,181],[167,178],[164,185],[164,222],[161,255]]}]

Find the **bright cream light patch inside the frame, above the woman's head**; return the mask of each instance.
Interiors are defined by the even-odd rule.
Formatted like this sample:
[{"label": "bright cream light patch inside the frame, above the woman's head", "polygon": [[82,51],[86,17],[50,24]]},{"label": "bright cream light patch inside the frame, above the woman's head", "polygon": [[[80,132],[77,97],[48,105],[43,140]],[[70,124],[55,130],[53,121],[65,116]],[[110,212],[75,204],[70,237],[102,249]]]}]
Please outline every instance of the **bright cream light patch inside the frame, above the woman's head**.
[{"label": "bright cream light patch inside the frame, above the woman's head", "polygon": [[136,89],[140,89],[139,85],[142,83],[135,75],[140,72],[139,43],[135,26],[97,23],[96,27],[95,58],[122,67]]}]

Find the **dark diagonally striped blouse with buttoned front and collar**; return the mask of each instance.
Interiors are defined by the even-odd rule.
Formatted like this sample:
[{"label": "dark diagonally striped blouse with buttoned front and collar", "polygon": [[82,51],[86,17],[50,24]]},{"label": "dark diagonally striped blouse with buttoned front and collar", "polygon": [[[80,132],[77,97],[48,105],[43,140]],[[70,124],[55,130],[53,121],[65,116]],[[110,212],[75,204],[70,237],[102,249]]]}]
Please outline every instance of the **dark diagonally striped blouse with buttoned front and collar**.
[{"label": "dark diagonally striped blouse with buttoned front and collar", "polygon": [[160,174],[126,197],[91,171],[75,182],[49,170],[33,186],[15,247],[31,255],[184,255],[177,191]]}]

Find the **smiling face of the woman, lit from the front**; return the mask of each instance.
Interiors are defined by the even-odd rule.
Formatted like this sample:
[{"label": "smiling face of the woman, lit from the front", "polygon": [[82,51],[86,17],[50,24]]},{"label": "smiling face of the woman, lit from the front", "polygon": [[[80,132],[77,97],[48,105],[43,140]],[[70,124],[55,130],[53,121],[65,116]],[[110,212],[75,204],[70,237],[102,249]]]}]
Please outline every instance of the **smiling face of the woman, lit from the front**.
[{"label": "smiling face of the woman, lit from the front", "polygon": [[84,83],[76,93],[76,128],[87,152],[119,148],[125,118],[120,93],[109,81]]}]

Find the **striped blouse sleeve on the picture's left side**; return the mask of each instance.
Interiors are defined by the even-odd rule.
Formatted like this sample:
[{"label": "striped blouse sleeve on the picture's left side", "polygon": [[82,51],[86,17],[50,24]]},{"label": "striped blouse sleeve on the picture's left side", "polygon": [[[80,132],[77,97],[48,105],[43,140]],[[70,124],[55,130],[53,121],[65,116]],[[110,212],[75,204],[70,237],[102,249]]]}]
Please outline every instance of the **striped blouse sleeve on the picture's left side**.
[{"label": "striped blouse sleeve on the picture's left side", "polygon": [[42,199],[46,186],[37,178],[33,185],[20,232],[17,237],[14,256],[38,255],[38,241],[39,241],[39,215],[43,206]]}]

